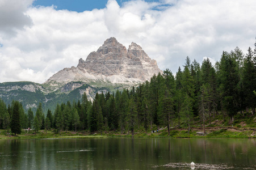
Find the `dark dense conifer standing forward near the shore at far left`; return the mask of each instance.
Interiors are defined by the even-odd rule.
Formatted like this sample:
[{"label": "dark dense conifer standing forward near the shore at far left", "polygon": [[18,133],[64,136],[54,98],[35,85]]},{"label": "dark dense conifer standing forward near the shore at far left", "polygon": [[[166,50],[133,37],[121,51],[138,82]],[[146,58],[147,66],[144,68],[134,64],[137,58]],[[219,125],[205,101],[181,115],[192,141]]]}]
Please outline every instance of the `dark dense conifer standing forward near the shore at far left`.
[{"label": "dark dense conifer standing forward near the shore at far left", "polygon": [[19,101],[14,101],[12,103],[12,116],[11,116],[11,132],[15,134],[20,134],[22,132],[20,125],[20,109]]}]

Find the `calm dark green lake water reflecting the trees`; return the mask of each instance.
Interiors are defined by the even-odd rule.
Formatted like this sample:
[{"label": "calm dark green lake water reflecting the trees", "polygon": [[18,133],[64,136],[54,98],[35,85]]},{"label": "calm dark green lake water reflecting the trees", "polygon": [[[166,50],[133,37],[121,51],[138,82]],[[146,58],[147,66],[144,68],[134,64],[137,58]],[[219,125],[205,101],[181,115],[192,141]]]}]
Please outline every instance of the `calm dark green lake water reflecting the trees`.
[{"label": "calm dark green lake water reflecting the trees", "polygon": [[0,140],[0,169],[191,169],[191,162],[195,169],[256,169],[256,140]]}]

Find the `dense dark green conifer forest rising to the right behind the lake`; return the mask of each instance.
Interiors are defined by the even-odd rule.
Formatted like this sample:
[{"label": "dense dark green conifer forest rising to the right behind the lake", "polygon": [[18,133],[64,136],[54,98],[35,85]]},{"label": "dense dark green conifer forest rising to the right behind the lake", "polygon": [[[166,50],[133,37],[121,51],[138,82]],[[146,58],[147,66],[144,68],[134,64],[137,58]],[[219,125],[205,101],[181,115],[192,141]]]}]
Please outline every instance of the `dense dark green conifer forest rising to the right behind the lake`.
[{"label": "dense dark green conifer forest rising to the right behind the lake", "polygon": [[[255,44],[256,46],[256,44]],[[190,131],[195,118],[204,127],[216,116],[233,124],[234,116],[255,115],[256,105],[256,47],[244,54],[239,48],[223,52],[215,65],[204,59],[202,65],[186,58],[184,66],[174,75],[169,69],[154,75],[132,90],[115,94],[96,94],[93,101],[83,95],[82,101],[56,104],[54,111],[43,114],[39,104],[36,113],[24,113],[22,104],[13,101],[8,107],[0,100],[0,129],[13,128],[16,111],[20,128],[36,130],[89,130],[91,133],[120,131],[121,134],[153,126],[160,130],[180,123]],[[18,107],[18,108],[17,108]],[[254,116],[255,117],[255,116]],[[16,133],[13,131],[13,133]],[[18,132],[17,132],[18,133]]]}]

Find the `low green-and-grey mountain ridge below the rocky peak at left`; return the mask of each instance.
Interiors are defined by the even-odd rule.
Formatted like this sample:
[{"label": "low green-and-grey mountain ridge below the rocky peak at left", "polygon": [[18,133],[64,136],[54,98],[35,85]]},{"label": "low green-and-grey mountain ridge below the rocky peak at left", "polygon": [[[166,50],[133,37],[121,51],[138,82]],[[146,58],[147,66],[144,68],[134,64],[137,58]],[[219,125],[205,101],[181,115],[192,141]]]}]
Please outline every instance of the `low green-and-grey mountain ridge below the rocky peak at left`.
[{"label": "low green-and-grey mountain ridge below the rocky peak at left", "polygon": [[19,100],[25,110],[31,107],[34,113],[39,103],[43,104],[46,113],[48,109],[53,111],[57,103],[73,100],[77,102],[84,93],[88,99],[93,100],[97,92],[107,91],[108,88],[95,88],[84,82],[69,82],[54,92],[49,92],[42,84],[33,82],[0,83],[0,98],[6,104],[11,104],[12,100]]}]

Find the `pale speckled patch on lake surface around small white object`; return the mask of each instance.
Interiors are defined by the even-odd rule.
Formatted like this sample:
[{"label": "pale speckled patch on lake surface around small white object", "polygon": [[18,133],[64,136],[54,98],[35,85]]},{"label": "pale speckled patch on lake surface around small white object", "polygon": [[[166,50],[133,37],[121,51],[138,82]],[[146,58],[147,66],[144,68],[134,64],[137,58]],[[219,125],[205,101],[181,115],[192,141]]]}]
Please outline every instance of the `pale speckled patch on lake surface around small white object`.
[{"label": "pale speckled patch on lake surface around small white object", "polygon": [[[160,168],[160,167],[184,169],[184,168],[191,167],[191,165],[188,164],[188,163],[169,163],[169,164],[165,164],[165,165],[156,165],[152,168]],[[219,164],[218,165],[218,164],[200,164],[200,163],[197,163],[197,164],[195,164],[195,167],[191,167],[191,169],[211,169],[211,170],[215,170],[215,169],[236,169],[236,168],[234,168],[233,166],[226,165],[226,164]]]}]

